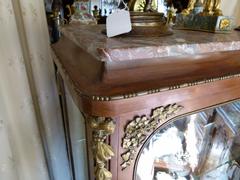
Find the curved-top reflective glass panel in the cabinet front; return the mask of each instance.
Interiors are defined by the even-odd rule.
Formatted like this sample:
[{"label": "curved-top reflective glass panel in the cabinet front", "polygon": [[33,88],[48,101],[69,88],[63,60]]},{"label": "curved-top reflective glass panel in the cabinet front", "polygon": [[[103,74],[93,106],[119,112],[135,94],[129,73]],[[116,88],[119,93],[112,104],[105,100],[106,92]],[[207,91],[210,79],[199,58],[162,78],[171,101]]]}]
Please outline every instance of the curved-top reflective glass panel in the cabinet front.
[{"label": "curved-top reflective glass panel in the cabinet front", "polygon": [[239,180],[240,102],[178,119],[142,148],[135,180]]}]

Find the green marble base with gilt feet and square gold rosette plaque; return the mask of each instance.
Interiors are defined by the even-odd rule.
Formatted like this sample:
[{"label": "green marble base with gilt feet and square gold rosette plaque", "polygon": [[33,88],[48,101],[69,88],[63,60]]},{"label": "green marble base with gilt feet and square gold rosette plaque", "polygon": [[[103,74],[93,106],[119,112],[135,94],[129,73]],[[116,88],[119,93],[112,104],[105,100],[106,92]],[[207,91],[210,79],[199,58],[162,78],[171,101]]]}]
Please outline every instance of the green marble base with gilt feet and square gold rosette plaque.
[{"label": "green marble base with gilt feet and square gold rosette plaque", "polygon": [[221,0],[190,0],[188,7],[177,15],[176,27],[207,32],[227,33],[234,28],[234,19],[223,16]]}]

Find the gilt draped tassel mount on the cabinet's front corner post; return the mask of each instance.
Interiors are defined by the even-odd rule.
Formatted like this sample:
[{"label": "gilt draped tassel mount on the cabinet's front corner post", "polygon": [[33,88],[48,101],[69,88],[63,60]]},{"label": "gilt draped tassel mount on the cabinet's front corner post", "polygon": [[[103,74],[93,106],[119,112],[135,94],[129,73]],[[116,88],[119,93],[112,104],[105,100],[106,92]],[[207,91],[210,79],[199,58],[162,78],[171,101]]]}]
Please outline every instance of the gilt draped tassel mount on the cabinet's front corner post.
[{"label": "gilt draped tassel mount on the cabinet's front corner post", "polygon": [[95,160],[96,180],[111,180],[112,173],[106,169],[106,163],[114,156],[111,146],[105,143],[106,138],[115,130],[115,123],[111,118],[91,118],[93,129],[93,156]]}]

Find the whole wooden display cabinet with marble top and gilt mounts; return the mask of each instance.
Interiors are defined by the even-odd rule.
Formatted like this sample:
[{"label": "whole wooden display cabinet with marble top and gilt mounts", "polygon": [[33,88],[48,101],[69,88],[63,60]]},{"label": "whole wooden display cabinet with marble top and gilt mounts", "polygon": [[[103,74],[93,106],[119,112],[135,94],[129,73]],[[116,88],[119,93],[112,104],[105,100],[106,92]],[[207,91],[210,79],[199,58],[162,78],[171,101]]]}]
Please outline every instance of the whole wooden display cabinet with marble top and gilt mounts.
[{"label": "whole wooden display cabinet with marble top and gilt mounts", "polygon": [[90,179],[239,179],[240,33],[103,28],[71,24],[52,46],[85,117]]}]

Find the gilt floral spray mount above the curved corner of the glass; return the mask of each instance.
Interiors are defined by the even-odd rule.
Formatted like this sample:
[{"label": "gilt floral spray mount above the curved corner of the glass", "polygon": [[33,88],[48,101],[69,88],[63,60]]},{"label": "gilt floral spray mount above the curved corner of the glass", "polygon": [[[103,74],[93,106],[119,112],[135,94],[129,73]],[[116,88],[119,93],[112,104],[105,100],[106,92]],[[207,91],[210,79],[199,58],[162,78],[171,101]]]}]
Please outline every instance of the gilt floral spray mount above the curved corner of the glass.
[{"label": "gilt floral spray mount above the curved corner of the glass", "polygon": [[127,124],[125,135],[122,139],[122,148],[125,149],[125,152],[121,155],[122,170],[131,165],[137,149],[144,143],[148,134],[176,115],[182,108],[183,106],[177,104],[170,104],[165,107],[161,106],[154,109],[150,117],[146,117],[145,115],[136,117]]}]

